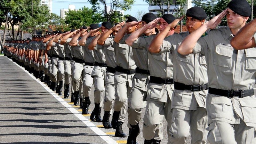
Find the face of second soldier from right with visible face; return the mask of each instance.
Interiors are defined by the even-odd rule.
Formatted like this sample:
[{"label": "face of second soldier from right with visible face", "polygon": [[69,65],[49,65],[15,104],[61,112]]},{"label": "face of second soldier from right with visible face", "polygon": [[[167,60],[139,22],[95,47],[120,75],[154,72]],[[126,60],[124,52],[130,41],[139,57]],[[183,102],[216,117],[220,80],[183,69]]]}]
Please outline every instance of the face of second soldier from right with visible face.
[{"label": "face of second soldier from right with visible face", "polygon": [[197,20],[192,17],[186,17],[186,27],[188,28],[188,32],[192,33],[197,28],[201,27],[204,24],[204,20]]}]

